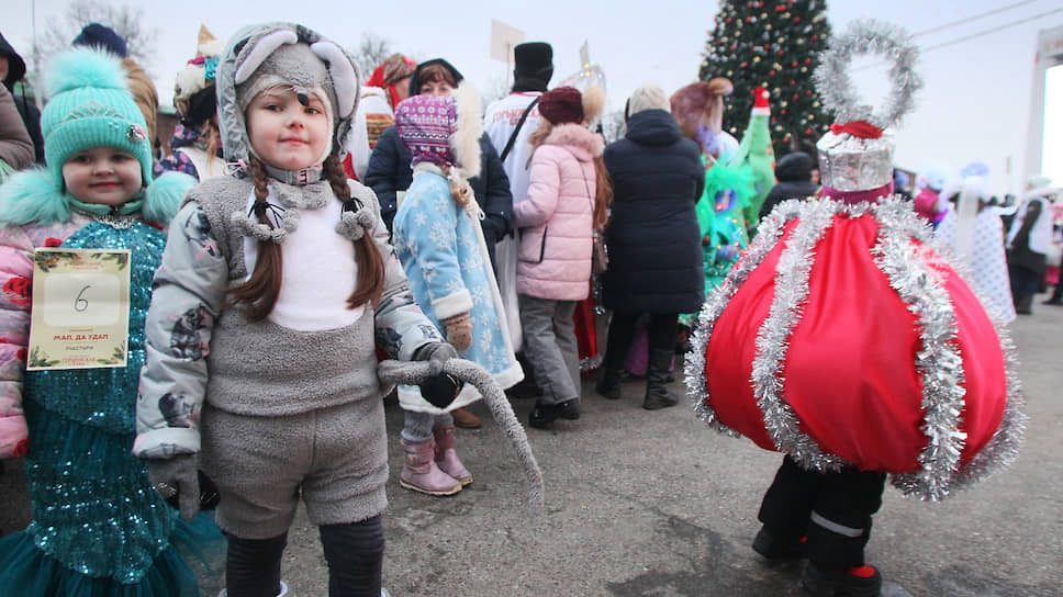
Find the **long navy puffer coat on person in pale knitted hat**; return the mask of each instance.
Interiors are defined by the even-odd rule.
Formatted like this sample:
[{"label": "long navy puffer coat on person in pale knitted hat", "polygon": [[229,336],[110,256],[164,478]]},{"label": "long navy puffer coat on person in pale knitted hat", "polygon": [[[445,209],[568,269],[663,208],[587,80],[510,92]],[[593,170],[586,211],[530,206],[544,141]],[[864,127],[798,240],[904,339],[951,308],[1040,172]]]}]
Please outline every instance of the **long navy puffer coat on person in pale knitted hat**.
[{"label": "long navy puffer coat on person in pale knitted hat", "polygon": [[697,145],[665,110],[644,110],[605,148],[613,213],[604,304],[617,312],[694,313],[705,298],[694,204],[705,169]]}]

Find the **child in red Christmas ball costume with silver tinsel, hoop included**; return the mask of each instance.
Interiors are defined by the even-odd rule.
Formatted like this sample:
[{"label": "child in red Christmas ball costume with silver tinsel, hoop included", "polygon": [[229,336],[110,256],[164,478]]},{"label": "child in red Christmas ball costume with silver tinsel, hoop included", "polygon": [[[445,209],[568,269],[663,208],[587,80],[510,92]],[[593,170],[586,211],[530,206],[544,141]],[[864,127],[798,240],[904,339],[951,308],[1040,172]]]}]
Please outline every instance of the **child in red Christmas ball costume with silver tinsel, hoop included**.
[{"label": "child in red Christmas ball costume with silver tinsel, hoop included", "polygon": [[[896,57],[891,105],[851,90],[853,55]],[[786,457],[753,549],[807,557],[814,595],[877,595],[864,561],[886,475],[940,500],[1010,462],[1023,416],[1010,342],[893,196],[883,128],[921,85],[892,26],[855,22],[816,71],[839,123],[818,143],[821,199],[781,203],[708,297],[686,361],[698,416]]]}]

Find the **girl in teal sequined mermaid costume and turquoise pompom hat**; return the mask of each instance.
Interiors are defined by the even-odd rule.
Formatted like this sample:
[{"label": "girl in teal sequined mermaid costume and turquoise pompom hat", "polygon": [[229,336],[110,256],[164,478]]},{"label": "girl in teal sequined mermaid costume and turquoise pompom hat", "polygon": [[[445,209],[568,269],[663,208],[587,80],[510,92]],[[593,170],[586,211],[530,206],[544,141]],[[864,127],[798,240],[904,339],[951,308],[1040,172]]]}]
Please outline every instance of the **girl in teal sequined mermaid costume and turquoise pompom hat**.
[{"label": "girl in teal sequined mermaid costume and turquoise pompom hat", "polygon": [[[57,57],[49,75],[41,120],[48,166],[0,187],[0,458],[25,455],[33,503],[29,528],[0,539],[0,590],[198,595],[174,545],[190,528],[132,453],[160,228],[194,180],[152,182],[144,119],[118,61],[78,49]],[[40,247],[131,250],[126,367],[25,371]]]}]

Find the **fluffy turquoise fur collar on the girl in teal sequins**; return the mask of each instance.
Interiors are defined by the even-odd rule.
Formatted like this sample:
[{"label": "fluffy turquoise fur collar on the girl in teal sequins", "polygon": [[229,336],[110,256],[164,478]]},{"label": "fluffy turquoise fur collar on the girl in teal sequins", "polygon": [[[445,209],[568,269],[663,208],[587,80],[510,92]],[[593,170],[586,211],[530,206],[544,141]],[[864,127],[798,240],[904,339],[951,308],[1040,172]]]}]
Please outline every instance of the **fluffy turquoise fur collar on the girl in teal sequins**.
[{"label": "fluffy turquoise fur collar on the girl in teal sequins", "polygon": [[[195,179],[188,174],[164,173],[134,198],[144,200],[141,217],[164,226],[169,224],[184,193],[194,185]],[[68,222],[72,198],[57,187],[47,168],[15,173],[0,185],[0,226]]]}]

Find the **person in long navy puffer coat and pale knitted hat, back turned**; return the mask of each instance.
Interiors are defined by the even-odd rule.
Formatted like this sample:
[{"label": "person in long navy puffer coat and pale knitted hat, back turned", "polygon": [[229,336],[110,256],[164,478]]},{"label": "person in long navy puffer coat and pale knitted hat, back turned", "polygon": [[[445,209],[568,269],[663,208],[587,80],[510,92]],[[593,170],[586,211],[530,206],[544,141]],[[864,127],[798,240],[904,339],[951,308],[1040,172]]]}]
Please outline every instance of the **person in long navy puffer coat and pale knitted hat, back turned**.
[{"label": "person in long navy puffer coat and pale knitted hat, back turned", "polygon": [[701,232],[694,205],[705,187],[697,145],[683,137],[656,86],[635,90],[628,100],[627,135],[605,148],[614,199],[605,241],[608,270],[604,305],[613,311],[597,392],[620,397],[620,374],[635,322],[649,314],[649,367],[642,407],[673,406],[664,386],[681,313],[698,311],[705,300]]}]

